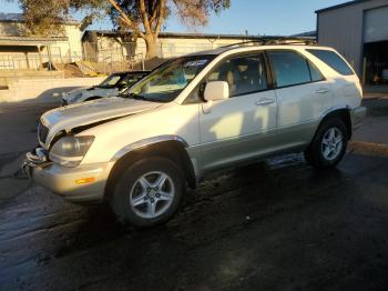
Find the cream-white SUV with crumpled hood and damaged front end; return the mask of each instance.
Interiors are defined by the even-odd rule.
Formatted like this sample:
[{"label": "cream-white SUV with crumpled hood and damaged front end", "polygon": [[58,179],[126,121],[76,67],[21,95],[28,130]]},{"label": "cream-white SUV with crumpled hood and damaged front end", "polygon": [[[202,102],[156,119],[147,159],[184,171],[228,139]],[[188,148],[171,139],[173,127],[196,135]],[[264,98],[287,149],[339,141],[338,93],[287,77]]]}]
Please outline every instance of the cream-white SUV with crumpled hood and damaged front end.
[{"label": "cream-white SUV with crumpled hood and damaged front end", "polygon": [[335,167],[360,126],[361,88],[335,50],[232,46],[172,60],[122,98],[44,113],[25,171],[72,202],[165,222],[215,170],[303,151]]}]

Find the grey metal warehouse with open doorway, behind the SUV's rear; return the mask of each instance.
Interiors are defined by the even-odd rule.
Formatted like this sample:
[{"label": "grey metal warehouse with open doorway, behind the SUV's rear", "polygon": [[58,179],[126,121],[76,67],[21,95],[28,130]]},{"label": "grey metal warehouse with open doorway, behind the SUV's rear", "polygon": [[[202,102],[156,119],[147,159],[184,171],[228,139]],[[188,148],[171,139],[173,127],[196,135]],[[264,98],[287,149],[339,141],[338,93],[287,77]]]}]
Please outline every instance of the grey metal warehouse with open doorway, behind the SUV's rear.
[{"label": "grey metal warehouse with open doorway, behind the SUV's rear", "polygon": [[317,39],[336,48],[363,83],[388,83],[388,0],[356,0],[316,11]]}]

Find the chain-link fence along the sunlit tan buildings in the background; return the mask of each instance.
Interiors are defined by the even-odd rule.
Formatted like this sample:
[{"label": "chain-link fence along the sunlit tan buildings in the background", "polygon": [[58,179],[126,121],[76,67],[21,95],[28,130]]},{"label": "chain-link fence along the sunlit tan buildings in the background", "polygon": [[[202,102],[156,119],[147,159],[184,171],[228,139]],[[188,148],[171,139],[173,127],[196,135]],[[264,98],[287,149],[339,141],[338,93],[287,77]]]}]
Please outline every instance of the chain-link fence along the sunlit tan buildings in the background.
[{"label": "chain-link fence along the sunlit tan buildings in the background", "polygon": [[[223,43],[157,42],[159,59],[171,59],[183,54],[210,50]],[[227,44],[227,43],[225,43]],[[109,74],[114,71],[153,69],[145,62],[145,43],[99,41],[83,42],[83,51],[63,51],[50,46],[41,51],[0,53],[1,70],[65,70],[68,64],[88,66],[95,73]],[[147,68],[150,67],[150,68]]]}]

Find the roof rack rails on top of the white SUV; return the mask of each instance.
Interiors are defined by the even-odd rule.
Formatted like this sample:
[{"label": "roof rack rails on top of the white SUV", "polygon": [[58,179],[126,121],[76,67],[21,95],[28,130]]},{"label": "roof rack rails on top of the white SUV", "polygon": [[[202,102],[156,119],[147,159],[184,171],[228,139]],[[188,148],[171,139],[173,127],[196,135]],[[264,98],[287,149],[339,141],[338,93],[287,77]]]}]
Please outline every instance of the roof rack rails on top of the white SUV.
[{"label": "roof rack rails on top of the white SUV", "polygon": [[233,48],[239,46],[276,46],[276,44],[300,44],[300,46],[314,46],[317,44],[315,39],[306,39],[306,38],[287,38],[287,37],[263,37],[262,39],[256,40],[246,40],[242,42],[236,42],[227,46],[223,46],[222,48]]}]

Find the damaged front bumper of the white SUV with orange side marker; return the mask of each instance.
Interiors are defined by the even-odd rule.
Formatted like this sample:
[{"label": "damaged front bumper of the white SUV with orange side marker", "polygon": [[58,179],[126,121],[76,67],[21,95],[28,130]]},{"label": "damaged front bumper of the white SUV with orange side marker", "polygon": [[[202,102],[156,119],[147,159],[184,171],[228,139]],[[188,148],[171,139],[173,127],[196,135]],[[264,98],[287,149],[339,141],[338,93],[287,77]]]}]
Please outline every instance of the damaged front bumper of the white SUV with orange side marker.
[{"label": "damaged front bumper of the white SUV with orange side marker", "polygon": [[71,202],[100,202],[113,162],[67,168],[48,159],[48,152],[37,148],[27,153],[22,170],[38,184]]}]

